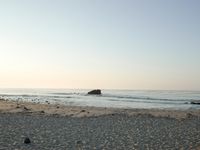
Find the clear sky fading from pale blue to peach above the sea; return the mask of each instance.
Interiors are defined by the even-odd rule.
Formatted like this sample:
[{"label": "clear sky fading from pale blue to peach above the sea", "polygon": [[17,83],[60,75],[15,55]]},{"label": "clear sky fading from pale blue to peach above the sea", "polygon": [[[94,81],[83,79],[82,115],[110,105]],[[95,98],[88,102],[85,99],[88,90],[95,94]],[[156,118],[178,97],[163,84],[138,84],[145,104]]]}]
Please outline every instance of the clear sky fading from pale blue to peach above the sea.
[{"label": "clear sky fading from pale blue to peach above the sea", "polygon": [[199,7],[0,0],[0,87],[200,90]]}]

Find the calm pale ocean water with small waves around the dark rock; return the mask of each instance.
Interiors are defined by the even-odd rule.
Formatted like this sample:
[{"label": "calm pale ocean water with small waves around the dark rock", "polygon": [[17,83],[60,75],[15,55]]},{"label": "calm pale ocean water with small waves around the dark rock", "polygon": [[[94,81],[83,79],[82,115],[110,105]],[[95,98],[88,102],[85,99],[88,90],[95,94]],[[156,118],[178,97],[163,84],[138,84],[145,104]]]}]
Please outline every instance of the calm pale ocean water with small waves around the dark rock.
[{"label": "calm pale ocean water with small waves around the dark rock", "polygon": [[13,101],[51,103],[68,106],[95,106],[140,109],[200,109],[190,104],[200,100],[200,91],[102,90],[101,96],[79,89],[0,89],[0,98]]}]

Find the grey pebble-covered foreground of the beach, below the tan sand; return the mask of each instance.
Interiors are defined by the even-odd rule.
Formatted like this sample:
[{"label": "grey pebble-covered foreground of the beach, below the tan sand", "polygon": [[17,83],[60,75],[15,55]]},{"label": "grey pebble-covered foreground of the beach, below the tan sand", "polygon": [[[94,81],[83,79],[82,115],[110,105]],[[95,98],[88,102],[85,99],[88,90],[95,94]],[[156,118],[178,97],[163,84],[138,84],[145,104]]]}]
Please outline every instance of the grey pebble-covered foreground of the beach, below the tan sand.
[{"label": "grey pebble-covered foreground of the beach, below the tan sand", "polygon": [[[31,143],[25,144],[29,138]],[[0,113],[0,150],[199,149],[200,117]]]}]

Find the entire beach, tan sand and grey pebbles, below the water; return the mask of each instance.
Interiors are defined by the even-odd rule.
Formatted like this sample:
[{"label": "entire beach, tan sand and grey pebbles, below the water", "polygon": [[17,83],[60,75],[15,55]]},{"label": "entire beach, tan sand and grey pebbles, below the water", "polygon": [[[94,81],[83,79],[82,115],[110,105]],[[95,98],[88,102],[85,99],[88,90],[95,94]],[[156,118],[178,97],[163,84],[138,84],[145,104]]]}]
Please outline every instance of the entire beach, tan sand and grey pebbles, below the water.
[{"label": "entire beach, tan sand and grey pebbles, below the water", "polygon": [[[200,149],[199,110],[0,100],[0,149]],[[30,144],[25,144],[28,137]]]}]

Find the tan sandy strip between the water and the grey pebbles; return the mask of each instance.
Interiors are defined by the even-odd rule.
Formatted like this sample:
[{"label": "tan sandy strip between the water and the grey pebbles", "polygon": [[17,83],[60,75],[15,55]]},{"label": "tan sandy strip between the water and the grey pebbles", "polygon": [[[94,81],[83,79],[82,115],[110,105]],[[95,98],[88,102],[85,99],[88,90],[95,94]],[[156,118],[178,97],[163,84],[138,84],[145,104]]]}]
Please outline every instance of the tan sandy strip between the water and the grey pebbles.
[{"label": "tan sandy strip between the water and the grey pebbles", "polygon": [[59,104],[40,104],[24,101],[10,101],[0,99],[0,113],[31,113],[45,115],[60,115],[71,117],[91,117],[110,114],[151,115],[154,117],[168,117],[184,119],[191,116],[200,117],[200,110],[173,110],[173,109],[132,109],[107,108],[89,106],[66,106]]}]

